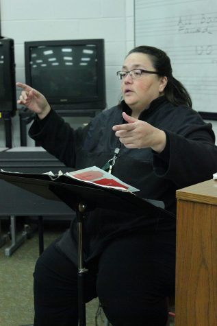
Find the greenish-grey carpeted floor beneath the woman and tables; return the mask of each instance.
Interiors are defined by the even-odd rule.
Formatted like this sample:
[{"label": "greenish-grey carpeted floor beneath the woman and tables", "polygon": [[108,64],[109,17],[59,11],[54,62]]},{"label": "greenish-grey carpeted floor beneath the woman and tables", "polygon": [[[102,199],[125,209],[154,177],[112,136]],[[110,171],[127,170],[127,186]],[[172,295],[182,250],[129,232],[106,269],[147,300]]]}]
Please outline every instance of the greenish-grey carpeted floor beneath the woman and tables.
[{"label": "greenish-grey carpeted floor beneath the woman and tables", "polygon": [[[2,233],[9,231],[8,222],[1,223]],[[22,231],[23,224],[17,229]],[[44,248],[66,229],[57,223],[44,224]],[[10,246],[10,239],[0,248],[0,326],[31,325],[34,318],[32,273],[38,257],[38,233],[35,232],[9,257],[5,248]],[[98,313],[98,299],[86,305],[86,325],[103,326],[104,314]],[[171,321],[170,326],[173,326]],[[132,325],[133,326],[133,325]],[[156,325],[157,326],[157,325]]]}]

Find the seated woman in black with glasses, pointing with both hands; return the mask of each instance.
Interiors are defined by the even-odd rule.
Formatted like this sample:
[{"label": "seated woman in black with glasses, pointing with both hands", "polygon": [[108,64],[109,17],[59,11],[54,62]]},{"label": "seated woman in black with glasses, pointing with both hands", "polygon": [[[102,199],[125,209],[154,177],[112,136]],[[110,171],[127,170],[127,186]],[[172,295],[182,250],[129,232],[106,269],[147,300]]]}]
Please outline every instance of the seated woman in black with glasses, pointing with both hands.
[{"label": "seated woman in black with glasses, pointing with both hands", "polygon": [[[18,104],[36,113],[29,135],[67,166],[107,167],[165,212],[95,209],[84,221],[85,299],[96,296],[114,326],[166,325],[175,292],[175,191],[212,178],[217,149],[211,124],[191,106],[164,51],[136,47],[121,71],[123,101],[73,130],[31,87]],[[77,325],[77,231],[71,228],[39,257],[34,272],[35,326]]]}]

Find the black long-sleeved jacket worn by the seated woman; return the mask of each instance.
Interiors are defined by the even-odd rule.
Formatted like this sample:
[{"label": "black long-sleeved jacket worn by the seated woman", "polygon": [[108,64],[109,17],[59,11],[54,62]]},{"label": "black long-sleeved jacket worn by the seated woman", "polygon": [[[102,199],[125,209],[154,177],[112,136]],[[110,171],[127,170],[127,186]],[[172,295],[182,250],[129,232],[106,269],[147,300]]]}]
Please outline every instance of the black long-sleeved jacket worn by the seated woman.
[{"label": "black long-sleeved jacket worn by the seated woman", "polygon": [[[103,167],[114,155],[114,149],[120,146],[112,126],[125,123],[123,110],[131,114],[131,109],[122,102],[120,106],[104,110],[88,126],[77,130],[51,110],[42,121],[34,121],[29,135],[66,166],[76,170],[92,165]],[[150,148],[127,149],[122,145],[112,174],[140,189],[136,192],[138,196],[161,200],[166,210],[175,213],[176,189],[208,180],[217,171],[212,125],[205,124],[191,108],[173,106],[164,96],[151,102],[139,119],[166,132],[166,148],[157,154]],[[121,216],[119,213],[117,217],[114,211],[95,210],[85,224],[86,248],[91,247],[87,254],[96,251],[111,235],[132,229],[145,230],[148,226],[144,220],[141,212],[126,218],[125,214]],[[62,251],[71,256],[69,241],[71,246],[77,242],[75,221],[60,244]]]}]

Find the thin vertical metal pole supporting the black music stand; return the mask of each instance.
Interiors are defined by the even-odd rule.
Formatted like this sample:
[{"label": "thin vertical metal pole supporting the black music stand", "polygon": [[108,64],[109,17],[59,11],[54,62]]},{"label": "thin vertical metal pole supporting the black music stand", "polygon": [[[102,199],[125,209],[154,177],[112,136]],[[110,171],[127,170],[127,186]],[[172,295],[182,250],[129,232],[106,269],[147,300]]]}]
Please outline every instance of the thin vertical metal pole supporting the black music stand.
[{"label": "thin vertical metal pole supporting the black music stand", "polygon": [[79,326],[86,326],[86,304],[84,300],[84,273],[88,270],[84,268],[83,259],[83,220],[86,205],[79,204],[77,211],[77,235],[78,235],[78,270],[77,270],[77,290],[78,290],[78,312]]}]

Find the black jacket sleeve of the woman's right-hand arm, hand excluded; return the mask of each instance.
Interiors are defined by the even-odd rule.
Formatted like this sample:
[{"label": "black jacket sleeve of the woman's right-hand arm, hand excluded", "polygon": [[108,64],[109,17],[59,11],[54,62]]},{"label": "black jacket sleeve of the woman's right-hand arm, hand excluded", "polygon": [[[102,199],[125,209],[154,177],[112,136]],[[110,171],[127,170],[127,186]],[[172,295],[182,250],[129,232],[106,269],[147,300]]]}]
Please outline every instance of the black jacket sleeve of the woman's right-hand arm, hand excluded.
[{"label": "black jacket sleeve of the woman's right-hand arm, hand excluded", "polygon": [[213,177],[217,172],[217,147],[209,124],[192,126],[185,136],[165,132],[166,147],[153,155],[153,168],[159,178],[168,178],[180,188]]}]

